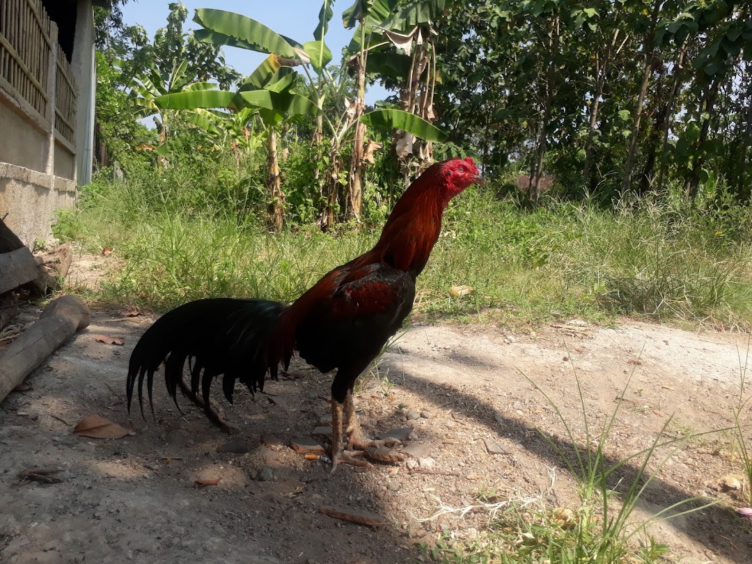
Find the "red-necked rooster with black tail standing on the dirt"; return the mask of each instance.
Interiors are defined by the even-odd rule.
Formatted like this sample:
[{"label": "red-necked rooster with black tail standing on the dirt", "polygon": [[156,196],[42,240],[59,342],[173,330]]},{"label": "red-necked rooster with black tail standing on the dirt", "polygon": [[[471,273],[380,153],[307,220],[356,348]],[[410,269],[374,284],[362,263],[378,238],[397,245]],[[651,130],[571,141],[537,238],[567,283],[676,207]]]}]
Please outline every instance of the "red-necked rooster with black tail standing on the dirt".
[{"label": "red-necked rooster with black tail standing on the dirt", "polygon": [[[153,413],[153,376],[162,362],[175,404],[179,386],[209,412],[209,388],[215,377],[223,374],[223,391],[232,403],[236,380],[251,393],[263,391],[266,374],[276,380],[280,364],[287,370],[297,351],[322,372],[337,368],[332,382],[332,472],[340,462],[358,463],[343,449],[343,414],[350,449],[389,444],[389,439],[364,437],[353,386],[410,314],[415,279],[438,240],[447,203],[482,181],[469,157],[430,166],[396,203],[376,246],[329,271],[292,305],[263,299],[200,299],[163,315],[133,349],[126,384],[128,410],[138,381],[143,414],[145,379]],[[190,386],[183,381],[186,360]]]}]

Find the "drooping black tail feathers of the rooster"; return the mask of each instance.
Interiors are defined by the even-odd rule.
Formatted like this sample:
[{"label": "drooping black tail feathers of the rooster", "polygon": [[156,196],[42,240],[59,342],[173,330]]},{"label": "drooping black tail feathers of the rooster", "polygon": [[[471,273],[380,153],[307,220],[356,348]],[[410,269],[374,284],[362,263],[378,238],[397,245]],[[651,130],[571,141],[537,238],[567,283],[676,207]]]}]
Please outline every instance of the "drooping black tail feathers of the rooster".
[{"label": "drooping black tail feathers of the rooster", "polygon": [[[220,374],[225,397],[231,403],[235,380],[251,393],[263,390],[266,372],[270,371],[273,378],[277,374],[277,366],[270,366],[267,360],[267,343],[286,308],[262,299],[214,298],[189,302],[163,315],[147,329],[131,354],[126,384],[128,411],[138,381],[138,404],[144,414],[145,379],[154,414],[154,372],[163,361],[165,384],[175,405],[178,387],[193,397],[200,388],[208,409],[211,382]],[[186,360],[190,387],[183,381]]]}]

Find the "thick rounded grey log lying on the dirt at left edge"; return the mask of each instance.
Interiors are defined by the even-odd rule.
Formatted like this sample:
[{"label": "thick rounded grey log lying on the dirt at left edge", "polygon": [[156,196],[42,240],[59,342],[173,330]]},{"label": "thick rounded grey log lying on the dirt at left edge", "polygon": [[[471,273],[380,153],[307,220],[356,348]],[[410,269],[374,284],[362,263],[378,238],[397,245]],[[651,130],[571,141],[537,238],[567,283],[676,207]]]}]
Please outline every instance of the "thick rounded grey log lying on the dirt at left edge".
[{"label": "thick rounded grey log lying on the dirt at left edge", "polygon": [[62,296],[50,302],[29,329],[0,350],[0,402],[90,321],[89,307],[76,296]]}]

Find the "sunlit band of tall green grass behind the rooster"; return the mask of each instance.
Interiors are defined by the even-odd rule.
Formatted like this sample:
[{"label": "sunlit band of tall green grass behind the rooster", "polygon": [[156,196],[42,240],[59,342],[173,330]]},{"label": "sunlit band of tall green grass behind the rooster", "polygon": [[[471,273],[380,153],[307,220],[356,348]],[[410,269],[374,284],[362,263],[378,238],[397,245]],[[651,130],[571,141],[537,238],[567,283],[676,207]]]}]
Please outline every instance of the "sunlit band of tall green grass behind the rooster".
[{"label": "sunlit band of tall green grass behind the rooster", "polygon": [[[170,190],[150,195],[141,178],[97,188],[83,211],[61,218],[58,233],[125,259],[99,299],[156,309],[202,296],[293,300],[367,250],[381,229],[324,235],[296,226],[272,236],[263,220],[221,199],[199,209],[183,196],[175,205]],[[531,213],[472,188],[447,209],[418,278],[416,311],[508,324],[626,314],[749,327],[752,251],[743,231],[729,235],[719,221],[656,202],[629,213],[547,202]],[[454,298],[456,284],[475,291]]]}]

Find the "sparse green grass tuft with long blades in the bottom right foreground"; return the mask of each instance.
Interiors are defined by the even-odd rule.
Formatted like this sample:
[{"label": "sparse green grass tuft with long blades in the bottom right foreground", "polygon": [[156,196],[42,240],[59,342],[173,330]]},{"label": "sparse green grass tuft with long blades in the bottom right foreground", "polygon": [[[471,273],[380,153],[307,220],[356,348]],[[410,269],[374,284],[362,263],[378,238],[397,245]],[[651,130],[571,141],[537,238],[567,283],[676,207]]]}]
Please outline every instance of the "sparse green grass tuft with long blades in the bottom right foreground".
[{"label": "sparse green grass tuft with long blades in the bottom right foreground", "polygon": [[[631,376],[620,397],[626,393],[629,380]],[[549,508],[540,499],[502,498],[499,502],[499,496],[486,495],[480,505],[472,508],[476,511],[486,509],[490,515],[487,528],[477,538],[458,541],[450,533],[445,534],[435,546],[423,547],[424,556],[441,564],[662,562],[669,547],[655,541],[650,535],[650,525],[700,511],[714,502],[702,498],[686,499],[642,521],[635,519],[635,508],[653,477],[685,441],[694,437],[669,438],[666,434],[666,429],[672,424],[669,418],[649,447],[625,459],[613,461],[608,457],[607,444],[621,402],[617,402],[601,428],[593,429],[581,382],[575,371],[585,437],[584,444],[580,444],[572,430],[573,421],[564,417],[541,387],[529,378],[528,381],[544,396],[562,423],[564,432],[561,437],[551,435],[544,429],[538,429],[538,432],[559,454],[569,475],[575,478],[579,506],[575,509]],[[665,447],[669,447],[669,452],[659,456],[658,450]],[[652,472],[648,472],[648,465],[653,468]],[[628,472],[624,472],[627,468]],[[483,503],[486,500],[488,502]],[[440,508],[436,515],[456,511],[462,510]]]}]

